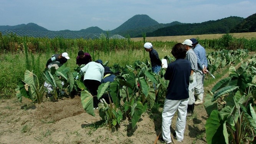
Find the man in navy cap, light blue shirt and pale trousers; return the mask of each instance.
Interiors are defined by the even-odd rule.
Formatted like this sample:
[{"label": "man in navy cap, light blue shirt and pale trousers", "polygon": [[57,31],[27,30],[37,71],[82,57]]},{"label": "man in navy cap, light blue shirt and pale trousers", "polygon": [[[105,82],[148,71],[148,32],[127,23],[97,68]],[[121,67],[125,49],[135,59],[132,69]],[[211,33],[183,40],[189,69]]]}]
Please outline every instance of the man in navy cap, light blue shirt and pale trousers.
[{"label": "man in navy cap, light blue shirt and pale trousers", "polygon": [[192,38],[192,46],[194,47],[193,51],[197,56],[197,66],[198,70],[196,71],[197,77],[197,86],[195,87],[195,93],[197,96],[197,101],[195,101],[195,105],[203,104],[203,80],[205,79],[206,69],[208,66],[208,61],[206,59],[206,52],[205,48],[202,47],[198,42],[197,39]]}]

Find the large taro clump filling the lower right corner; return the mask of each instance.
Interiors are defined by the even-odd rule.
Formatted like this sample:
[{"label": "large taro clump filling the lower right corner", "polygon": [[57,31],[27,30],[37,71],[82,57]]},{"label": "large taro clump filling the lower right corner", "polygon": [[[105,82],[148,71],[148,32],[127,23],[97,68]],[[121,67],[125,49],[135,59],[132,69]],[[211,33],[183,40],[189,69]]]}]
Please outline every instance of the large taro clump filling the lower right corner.
[{"label": "large taro clump filling the lower right corner", "polygon": [[256,136],[256,115],[253,96],[256,90],[254,62],[230,67],[229,77],[220,80],[206,95],[207,143],[240,144]]}]

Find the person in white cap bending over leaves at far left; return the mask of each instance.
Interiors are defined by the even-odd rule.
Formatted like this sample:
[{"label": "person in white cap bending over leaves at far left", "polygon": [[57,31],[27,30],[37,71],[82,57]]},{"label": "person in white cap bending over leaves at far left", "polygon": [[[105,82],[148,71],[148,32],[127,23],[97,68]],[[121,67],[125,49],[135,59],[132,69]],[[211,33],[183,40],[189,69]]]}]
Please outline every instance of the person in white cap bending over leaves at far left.
[{"label": "person in white cap bending over leaves at far left", "polygon": [[[66,52],[63,52],[62,54],[54,54],[53,56],[51,56],[50,59],[48,59],[45,67],[48,69],[51,69],[51,67],[55,67],[55,69],[58,69],[59,67],[61,67],[61,65],[66,63],[68,59],[70,58],[68,56],[68,53]],[[62,82],[62,85],[64,85],[64,82]],[[44,86],[48,89],[48,95],[46,95],[46,97],[50,97],[51,92],[53,91],[52,85],[50,83],[45,82]]]}]

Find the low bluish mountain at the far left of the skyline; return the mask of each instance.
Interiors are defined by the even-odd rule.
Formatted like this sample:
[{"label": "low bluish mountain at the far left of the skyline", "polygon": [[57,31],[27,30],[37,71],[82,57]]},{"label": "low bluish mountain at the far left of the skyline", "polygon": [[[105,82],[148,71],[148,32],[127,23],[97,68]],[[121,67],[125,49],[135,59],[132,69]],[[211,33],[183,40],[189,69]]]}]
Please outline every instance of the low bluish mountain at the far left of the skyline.
[{"label": "low bluish mountain at the far left of the skyline", "polygon": [[42,26],[38,26],[35,23],[21,24],[16,26],[0,26],[1,30],[23,30],[23,31],[49,31]]}]

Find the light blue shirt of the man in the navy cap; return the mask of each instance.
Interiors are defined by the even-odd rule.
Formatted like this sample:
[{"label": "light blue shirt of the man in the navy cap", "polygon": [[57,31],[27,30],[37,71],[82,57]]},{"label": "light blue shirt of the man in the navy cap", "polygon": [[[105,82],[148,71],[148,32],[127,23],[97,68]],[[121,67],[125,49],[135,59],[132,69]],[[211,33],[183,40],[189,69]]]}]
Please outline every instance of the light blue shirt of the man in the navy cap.
[{"label": "light blue shirt of the man in the navy cap", "polygon": [[195,46],[195,48],[193,49],[193,51],[195,52],[195,54],[197,56],[198,69],[203,70],[204,69],[203,65],[207,68],[208,61],[206,58],[205,48],[203,48],[200,44],[197,44]]}]

